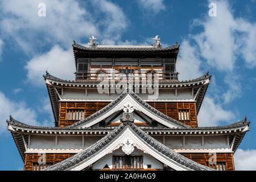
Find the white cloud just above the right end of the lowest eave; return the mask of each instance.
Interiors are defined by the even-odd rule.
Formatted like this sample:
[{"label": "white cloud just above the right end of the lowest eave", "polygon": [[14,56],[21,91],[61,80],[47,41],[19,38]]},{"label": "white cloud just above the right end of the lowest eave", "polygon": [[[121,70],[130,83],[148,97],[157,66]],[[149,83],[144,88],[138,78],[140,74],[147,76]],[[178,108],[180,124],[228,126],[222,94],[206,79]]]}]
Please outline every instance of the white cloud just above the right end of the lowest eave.
[{"label": "white cloud just above the right end of the lowest eave", "polygon": [[235,118],[232,111],[222,108],[213,98],[205,97],[198,115],[199,126],[218,126]]}]

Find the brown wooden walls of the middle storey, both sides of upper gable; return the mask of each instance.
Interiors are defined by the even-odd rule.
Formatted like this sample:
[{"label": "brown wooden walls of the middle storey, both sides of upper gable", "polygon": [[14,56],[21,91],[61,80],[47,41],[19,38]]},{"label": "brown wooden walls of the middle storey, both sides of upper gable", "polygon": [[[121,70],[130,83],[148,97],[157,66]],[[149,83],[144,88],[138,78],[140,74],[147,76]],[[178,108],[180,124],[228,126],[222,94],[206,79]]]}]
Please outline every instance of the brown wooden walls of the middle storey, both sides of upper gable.
[{"label": "brown wooden walls of the middle storey, both sides of upper gable", "polygon": [[[69,109],[82,109],[84,110],[84,118],[96,113],[110,102],[60,102],[59,110],[59,126],[65,127],[72,125],[78,120],[67,120],[67,110]],[[183,122],[185,125],[197,127],[196,103],[195,102],[148,102],[152,107],[159,110],[163,114],[168,115],[179,121],[179,109],[189,110],[189,119]]]}]

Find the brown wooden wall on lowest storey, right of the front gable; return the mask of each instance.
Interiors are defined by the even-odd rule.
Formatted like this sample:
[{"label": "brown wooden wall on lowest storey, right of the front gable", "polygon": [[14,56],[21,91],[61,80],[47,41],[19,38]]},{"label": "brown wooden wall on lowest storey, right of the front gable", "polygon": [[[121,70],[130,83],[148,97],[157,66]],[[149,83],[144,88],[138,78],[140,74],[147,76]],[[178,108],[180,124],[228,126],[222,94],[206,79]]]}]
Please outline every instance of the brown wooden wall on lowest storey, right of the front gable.
[{"label": "brown wooden wall on lowest storey, right of the front gable", "polygon": [[[209,155],[208,153],[192,153],[192,154],[181,154],[188,159],[191,159],[199,164],[209,167],[209,158],[213,155]],[[220,153],[216,154],[216,162],[222,162],[226,164],[226,171],[234,171],[234,160],[233,154],[230,153]]]}]

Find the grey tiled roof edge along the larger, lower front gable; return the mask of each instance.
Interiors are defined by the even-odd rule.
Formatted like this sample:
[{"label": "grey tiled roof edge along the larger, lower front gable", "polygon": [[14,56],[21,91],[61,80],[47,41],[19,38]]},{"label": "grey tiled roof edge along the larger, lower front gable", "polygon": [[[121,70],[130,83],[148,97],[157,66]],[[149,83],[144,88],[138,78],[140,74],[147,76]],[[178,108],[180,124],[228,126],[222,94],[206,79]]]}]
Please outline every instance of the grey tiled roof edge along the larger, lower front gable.
[{"label": "grey tiled roof edge along the larger, lower front gable", "polygon": [[122,131],[126,129],[126,127],[130,127],[130,129],[133,130],[138,137],[142,138],[144,142],[148,143],[151,147],[153,147],[156,152],[162,153],[163,155],[167,156],[171,160],[175,160],[175,162],[196,171],[212,170],[199,163],[193,162],[192,160],[185,158],[180,154],[177,154],[175,151],[164,146],[164,144],[158,142],[156,139],[144,133],[144,131],[139,129],[137,126],[134,125],[134,123],[131,123],[131,122],[123,122],[119,127],[117,127],[111,133],[106,135],[104,138],[98,140],[98,142],[96,142],[92,146],[86,148],[85,150],[72,156],[71,158],[64,160],[63,162],[57,163],[49,168],[46,168],[45,170],[46,171],[51,171],[51,170],[63,171],[65,169],[68,169],[82,162],[82,160],[86,160],[89,157],[97,155],[98,152],[103,150],[106,146],[108,146],[110,142],[112,142],[112,140],[114,140],[119,134],[121,134]]}]

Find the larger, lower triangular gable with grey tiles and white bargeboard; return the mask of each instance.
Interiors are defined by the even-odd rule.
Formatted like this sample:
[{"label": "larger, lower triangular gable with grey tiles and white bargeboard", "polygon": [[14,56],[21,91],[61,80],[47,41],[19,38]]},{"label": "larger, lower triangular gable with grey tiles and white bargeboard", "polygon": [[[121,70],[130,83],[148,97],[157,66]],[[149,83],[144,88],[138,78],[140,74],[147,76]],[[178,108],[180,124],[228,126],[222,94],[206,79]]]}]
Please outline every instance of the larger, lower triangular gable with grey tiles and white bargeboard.
[{"label": "larger, lower triangular gable with grey tiles and white bargeboard", "polygon": [[[129,142],[127,142],[128,140]],[[127,147],[127,143],[131,146]],[[46,170],[79,171],[120,147],[122,147],[122,151],[127,155],[133,151],[134,147],[137,147],[139,150],[146,152],[153,158],[175,170],[211,170],[208,167],[177,154],[175,151],[144,133],[144,131],[139,129],[139,127],[135,126],[132,122],[123,122],[111,133],[98,140],[97,143],[81,151],[79,154],[63,160],[63,162],[46,168]]]}]

